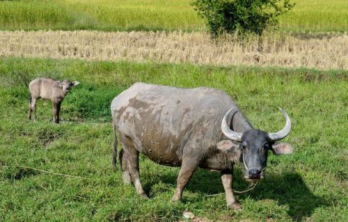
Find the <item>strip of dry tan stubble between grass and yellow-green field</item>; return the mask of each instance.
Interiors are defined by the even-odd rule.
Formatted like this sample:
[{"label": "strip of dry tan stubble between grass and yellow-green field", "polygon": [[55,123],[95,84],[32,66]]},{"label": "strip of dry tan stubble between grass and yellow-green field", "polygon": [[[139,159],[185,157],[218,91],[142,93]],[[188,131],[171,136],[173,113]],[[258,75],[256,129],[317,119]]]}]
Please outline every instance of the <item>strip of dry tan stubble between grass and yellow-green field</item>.
[{"label": "strip of dry tan stubble between grass and yellow-green field", "polygon": [[320,38],[273,33],[261,45],[258,42],[257,38],[216,42],[200,32],[0,31],[0,56],[348,68],[347,33]]}]

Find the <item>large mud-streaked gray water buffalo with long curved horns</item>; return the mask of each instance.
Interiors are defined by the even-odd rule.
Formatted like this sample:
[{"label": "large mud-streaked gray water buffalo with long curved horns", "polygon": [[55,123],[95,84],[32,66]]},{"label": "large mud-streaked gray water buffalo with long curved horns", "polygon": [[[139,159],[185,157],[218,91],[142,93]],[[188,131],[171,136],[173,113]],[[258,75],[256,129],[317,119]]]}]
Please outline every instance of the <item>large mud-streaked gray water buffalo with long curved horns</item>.
[{"label": "large mud-streaked gray water buffalo with long curved horns", "polygon": [[238,106],[223,90],[175,88],[136,83],[111,102],[113,118],[113,166],[118,140],[125,183],[134,183],[147,198],[139,180],[139,152],[158,164],[181,166],[173,201],[196,168],[221,172],[227,206],[242,209],[232,190],[233,165],[244,163],[246,180],[264,178],[267,154],[290,154],[287,143],[275,143],[290,133],[291,122],[283,111],[285,127],[269,134],[254,129]]}]

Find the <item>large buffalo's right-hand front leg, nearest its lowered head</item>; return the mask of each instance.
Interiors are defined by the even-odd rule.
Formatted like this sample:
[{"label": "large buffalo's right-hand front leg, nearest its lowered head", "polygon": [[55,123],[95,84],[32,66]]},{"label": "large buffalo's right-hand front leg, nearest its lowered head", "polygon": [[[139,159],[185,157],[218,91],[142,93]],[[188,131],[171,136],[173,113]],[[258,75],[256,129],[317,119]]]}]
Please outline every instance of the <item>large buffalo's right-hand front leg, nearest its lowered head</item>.
[{"label": "large buffalo's right-hand front leg, nearest its lowered head", "polygon": [[242,210],[242,206],[237,203],[235,196],[233,195],[232,189],[232,171],[222,171],[221,180],[223,184],[223,189],[225,189],[227,207],[229,209],[234,209],[237,211]]}]

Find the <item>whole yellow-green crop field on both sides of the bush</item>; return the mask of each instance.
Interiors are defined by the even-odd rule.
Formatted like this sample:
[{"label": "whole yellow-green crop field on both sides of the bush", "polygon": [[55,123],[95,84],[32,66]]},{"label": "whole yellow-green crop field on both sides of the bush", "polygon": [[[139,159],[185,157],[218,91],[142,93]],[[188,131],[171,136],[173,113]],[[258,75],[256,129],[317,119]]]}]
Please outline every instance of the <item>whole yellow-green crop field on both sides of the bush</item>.
[{"label": "whole yellow-green crop field on both sides of the bush", "polygon": [[[0,30],[95,29],[102,31],[204,31],[191,0],[0,1]],[[293,0],[294,9],[280,17],[283,31],[348,31],[345,0]]]}]

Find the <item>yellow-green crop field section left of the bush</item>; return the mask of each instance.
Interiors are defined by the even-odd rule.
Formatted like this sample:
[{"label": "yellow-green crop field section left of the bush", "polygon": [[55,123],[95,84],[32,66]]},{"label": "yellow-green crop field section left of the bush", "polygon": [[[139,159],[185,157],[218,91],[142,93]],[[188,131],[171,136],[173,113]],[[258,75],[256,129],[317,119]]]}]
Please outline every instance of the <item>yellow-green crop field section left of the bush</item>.
[{"label": "yellow-green crop field section left of the bush", "polygon": [[1,2],[0,29],[198,30],[200,18],[189,1]]}]

